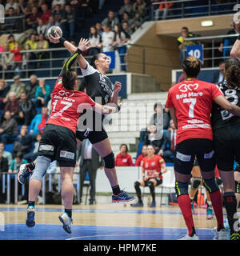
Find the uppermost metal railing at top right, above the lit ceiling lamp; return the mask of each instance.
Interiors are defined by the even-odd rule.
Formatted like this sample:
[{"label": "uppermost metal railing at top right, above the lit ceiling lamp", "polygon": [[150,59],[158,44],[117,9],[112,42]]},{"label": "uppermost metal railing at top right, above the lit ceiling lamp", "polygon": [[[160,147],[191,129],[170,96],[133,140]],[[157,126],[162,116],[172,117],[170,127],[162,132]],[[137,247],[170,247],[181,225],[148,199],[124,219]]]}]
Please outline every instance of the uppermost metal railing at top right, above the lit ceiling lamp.
[{"label": "uppermost metal railing at top right, above the lit ceiling lamp", "polygon": [[[214,0],[206,0],[205,4],[201,5],[203,1],[197,0],[178,0],[178,1],[167,1],[166,3],[174,3],[174,6],[168,9],[166,18],[188,18],[195,16],[210,16],[219,14],[230,14],[234,11],[234,5],[238,4],[239,1],[231,1],[225,3],[215,4]],[[151,18],[154,20],[156,10],[158,6],[164,2],[154,2],[151,6]],[[195,5],[198,4],[199,5]],[[191,6],[189,6],[189,4]]]}]

